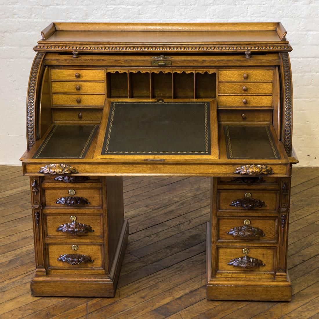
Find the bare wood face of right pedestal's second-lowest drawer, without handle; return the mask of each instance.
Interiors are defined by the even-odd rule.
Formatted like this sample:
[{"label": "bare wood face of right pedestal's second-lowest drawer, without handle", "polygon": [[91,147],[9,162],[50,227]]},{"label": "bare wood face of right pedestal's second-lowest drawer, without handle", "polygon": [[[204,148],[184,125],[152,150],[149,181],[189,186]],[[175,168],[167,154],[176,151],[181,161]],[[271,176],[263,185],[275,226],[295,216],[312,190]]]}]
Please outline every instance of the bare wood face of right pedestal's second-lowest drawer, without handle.
[{"label": "bare wood face of right pedestal's second-lowest drawer, without handle", "polygon": [[[265,234],[263,237],[240,237],[233,236],[232,234],[227,234],[230,229],[234,227],[244,226],[244,220],[249,219],[251,227],[261,229]],[[238,241],[250,240],[250,241],[275,241],[276,240],[276,218],[256,218],[249,217],[249,212],[247,217],[243,218],[218,218],[218,240],[222,241]],[[248,226],[248,227],[249,227]]]}]

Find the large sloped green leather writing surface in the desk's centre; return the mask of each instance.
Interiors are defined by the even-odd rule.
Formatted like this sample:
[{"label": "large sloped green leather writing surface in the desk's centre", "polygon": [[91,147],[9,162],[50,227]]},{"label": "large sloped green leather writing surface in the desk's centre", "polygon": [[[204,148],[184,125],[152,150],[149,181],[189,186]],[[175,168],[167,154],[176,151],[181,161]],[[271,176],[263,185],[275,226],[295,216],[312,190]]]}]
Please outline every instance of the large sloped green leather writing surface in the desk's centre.
[{"label": "large sloped green leather writing surface in the desk's centre", "polygon": [[209,102],[113,102],[101,154],[209,155]]}]

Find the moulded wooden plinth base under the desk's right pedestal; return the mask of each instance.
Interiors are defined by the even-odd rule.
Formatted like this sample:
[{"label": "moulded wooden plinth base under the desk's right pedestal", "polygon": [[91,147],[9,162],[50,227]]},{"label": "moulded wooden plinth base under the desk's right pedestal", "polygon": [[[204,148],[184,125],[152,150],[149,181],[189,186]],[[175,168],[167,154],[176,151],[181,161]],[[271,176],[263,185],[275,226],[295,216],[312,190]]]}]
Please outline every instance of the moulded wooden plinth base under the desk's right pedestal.
[{"label": "moulded wooden plinth base under the desk's right pedestal", "polygon": [[207,299],[211,300],[260,300],[291,301],[292,286],[287,280],[251,280],[251,278],[210,278],[211,273],[211,225],[206,228]]}]

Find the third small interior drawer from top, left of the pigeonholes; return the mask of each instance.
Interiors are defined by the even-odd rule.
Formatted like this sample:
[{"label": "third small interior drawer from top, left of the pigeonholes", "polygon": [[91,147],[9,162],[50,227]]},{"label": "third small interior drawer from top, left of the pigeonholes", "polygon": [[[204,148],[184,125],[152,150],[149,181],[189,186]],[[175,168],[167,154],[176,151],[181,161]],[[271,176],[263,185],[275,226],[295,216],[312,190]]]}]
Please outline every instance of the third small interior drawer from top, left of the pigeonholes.
[{"label": "third small interior drawer from top, left of the pigeonholes", "polygon": [[104,105],[105,95],[53,94],[54,105]]}]

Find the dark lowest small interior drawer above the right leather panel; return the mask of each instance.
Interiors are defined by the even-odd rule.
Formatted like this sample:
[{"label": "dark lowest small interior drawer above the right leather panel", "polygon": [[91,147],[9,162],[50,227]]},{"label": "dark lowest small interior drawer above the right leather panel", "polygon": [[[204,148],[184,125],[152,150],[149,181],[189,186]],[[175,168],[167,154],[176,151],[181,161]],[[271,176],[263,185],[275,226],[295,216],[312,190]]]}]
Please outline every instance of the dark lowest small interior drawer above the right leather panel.
[{"label": "dark lowest small interior drawer above the right leather panel", "polygon": [[272,110],[218,110],[219,123],[236,123],[245,125],[245,123],[271,123]]}]

